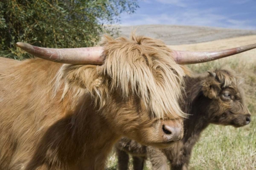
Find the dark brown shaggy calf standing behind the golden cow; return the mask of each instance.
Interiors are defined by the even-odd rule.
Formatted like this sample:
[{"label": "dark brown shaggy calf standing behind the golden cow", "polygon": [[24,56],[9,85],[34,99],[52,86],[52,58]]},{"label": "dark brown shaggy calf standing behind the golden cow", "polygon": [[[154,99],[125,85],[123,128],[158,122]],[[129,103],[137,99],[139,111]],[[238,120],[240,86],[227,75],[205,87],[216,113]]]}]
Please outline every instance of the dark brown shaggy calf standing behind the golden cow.
[{"label": "dark brown shaggy calf standing behind the golden cow", "polygon": [[147,157],[152,162],[153,170],[167,170],[167,160],[172,170],[186,170],[194,145],[210,123],[237,128],[250,123],[251,114],[244,104],[240,82],[239,77],[224,69],[209,71],[207,76],[186,77],[185,103],[180,105],[183,112],[191,115],[183,121],[183,139],[171,148],[157,149],[122,138],[116,144],[119,169],[128,169],[130,153],[133,155],[134,170],[143,170]]}]

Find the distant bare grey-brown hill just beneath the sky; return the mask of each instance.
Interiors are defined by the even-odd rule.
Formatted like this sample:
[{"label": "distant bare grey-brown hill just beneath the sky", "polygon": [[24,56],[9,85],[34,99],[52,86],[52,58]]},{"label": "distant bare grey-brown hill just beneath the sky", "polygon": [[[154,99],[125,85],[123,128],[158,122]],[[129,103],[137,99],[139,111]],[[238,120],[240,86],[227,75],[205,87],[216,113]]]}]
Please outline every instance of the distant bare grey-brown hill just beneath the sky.
[{"label": "distant bare grey-brown hill just beneath the sky", "polygon": [[120,34],[128,36],[131,30],[139,35],[161,39],[168,45],[203,43],[216,39],[256,35],[256,30],[228,29],[203,26],[140,25],[120,26]]}]

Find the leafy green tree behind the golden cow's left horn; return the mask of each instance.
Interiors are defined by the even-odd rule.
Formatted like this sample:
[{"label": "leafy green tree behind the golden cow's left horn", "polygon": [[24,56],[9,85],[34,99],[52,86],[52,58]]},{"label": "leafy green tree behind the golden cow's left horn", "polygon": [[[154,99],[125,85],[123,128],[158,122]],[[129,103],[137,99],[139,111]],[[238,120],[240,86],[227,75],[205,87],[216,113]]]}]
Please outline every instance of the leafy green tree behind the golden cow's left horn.
[{"label": "leafy green tree behind the golden cow's left horn", "polygon": [[40,47],[95,46],[102,33],[117,33],[123,12],[132,14],[137,0],[4,0],[0,2],[0,55],[23,59],[18,41]]}]

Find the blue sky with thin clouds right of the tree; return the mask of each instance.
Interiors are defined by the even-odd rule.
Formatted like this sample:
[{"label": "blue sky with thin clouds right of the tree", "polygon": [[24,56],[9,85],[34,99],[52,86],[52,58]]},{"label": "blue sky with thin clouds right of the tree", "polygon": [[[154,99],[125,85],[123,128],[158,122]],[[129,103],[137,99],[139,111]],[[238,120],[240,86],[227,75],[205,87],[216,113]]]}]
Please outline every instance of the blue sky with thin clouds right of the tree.
[{"label": "blue sky with thin clouds right of the tree", "polygon": [[256,30],[256,0],[139,0],[121,25],[175,24]]}]

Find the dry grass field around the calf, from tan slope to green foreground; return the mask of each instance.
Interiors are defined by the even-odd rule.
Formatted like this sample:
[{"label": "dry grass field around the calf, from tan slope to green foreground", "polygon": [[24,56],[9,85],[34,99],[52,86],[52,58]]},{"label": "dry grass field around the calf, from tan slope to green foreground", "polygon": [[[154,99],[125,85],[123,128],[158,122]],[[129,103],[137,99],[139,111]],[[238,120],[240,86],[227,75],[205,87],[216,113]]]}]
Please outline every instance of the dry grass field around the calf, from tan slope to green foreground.
[{"label": "dry grass field around the calf, from tan slope to green foreground", "polygon": [[[169,46],[175,50],[221,50],[256,43],[256,35]],[[221,60],[188,65],[195,73],[215,68],[231,68],[244,79],[246,103],[252,122],[242,128],[210,125],[193,149],[190,170],[256,170],[256,49]],[[116,169],[116,156],[109,158],[108,170]],[[132,166],[130,166],[132,169]],[[146,170],[150,170],[147,162]]]}]

